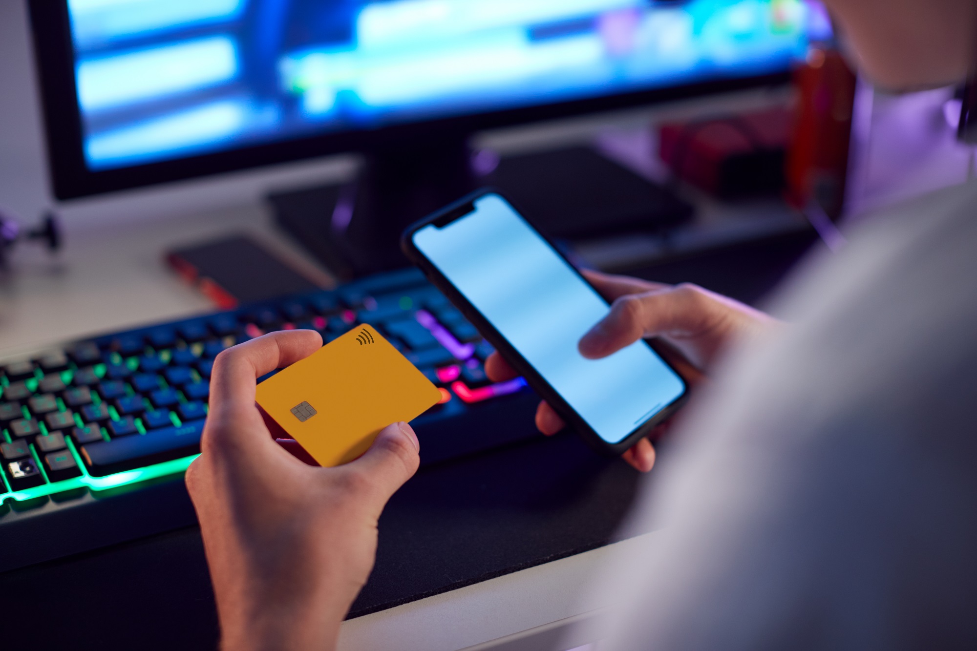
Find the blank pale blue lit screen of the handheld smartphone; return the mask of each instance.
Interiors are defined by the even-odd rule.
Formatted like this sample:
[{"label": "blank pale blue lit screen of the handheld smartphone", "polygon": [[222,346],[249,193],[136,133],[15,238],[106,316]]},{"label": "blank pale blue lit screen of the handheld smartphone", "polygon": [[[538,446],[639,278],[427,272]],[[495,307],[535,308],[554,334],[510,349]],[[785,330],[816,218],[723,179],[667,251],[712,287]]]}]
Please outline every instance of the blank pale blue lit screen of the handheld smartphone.
[{"label": "blank pale blue lit screen of the handheld smartphone", "polygon": [[605,441],[621,441],[685,391],[644,341],[601,360],[580,355],[577,342],[608,304],[500,196],[421,229],[414,243]]}]

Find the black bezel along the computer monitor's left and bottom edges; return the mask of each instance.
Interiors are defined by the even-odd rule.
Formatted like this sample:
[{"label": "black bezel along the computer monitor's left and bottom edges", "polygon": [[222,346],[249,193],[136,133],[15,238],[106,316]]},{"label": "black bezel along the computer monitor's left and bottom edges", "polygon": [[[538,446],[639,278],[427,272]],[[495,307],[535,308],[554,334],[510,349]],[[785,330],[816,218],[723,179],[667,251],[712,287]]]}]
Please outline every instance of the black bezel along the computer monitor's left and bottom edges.
[{"label": "black bezel along the computer monitor's left and bottom edges", "polygon": [[89,169],[77,103],[74,48],[66,0],[28,0],[36,77],[44,114],[51,188],[67,200],[104,195],[343,152],[376,152],[409,143],[461,139],[485,129],[625,109],[759,86],[785,84],[788,69],[752,76],[616,93],[594,98],[454,115],[378,128],[305,135],[275,143],[100,171]]}]

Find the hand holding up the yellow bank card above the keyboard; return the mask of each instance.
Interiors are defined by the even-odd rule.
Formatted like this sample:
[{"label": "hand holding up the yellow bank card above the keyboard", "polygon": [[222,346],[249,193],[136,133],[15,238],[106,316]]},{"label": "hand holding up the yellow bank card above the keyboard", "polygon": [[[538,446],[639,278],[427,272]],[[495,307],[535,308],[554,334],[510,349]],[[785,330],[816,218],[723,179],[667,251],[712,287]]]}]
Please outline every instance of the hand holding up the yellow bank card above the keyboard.
[{"label": "hand holding up the yellow bank card above the keyboard", "polygon": [[187,471],[225,649],[333,649],[373,567],[377,519],[417,470],[406,423],[360,458],[307,465],[279,447],[255,378],[319,350],[313,330],[274,332],[214,363],[201,455]]}]

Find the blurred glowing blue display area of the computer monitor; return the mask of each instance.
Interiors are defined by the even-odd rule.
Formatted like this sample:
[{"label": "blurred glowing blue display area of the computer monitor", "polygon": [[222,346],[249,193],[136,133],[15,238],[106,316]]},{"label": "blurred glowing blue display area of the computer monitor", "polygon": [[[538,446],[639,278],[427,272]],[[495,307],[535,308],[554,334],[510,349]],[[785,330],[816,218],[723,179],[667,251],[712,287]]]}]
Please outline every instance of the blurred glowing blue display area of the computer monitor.
[{"label": "blurred glowing blue display area of the computer monitor", "polygon": [[93,170],[782,70],[806,0],[67,0]]}]

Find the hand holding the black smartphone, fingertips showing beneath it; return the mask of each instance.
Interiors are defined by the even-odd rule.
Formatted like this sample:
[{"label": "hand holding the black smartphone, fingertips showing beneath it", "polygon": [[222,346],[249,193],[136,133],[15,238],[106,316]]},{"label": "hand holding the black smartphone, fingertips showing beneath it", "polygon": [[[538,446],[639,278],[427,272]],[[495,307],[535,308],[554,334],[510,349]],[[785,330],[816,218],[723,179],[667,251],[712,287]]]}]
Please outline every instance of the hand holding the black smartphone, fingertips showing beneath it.
[{"label": "hand holding the black smartphone, fingertips showing beneath it", "polygon": [[[613,304],[608,316],[580,339],[580,354],[596,360],[638,339],[657,337],[665,344],[659,352],[693,386],[701,382],[703,371],[731,341],[780,323],[695,284],[669,285],[591,271],[584,271],[583,275]],[[494,382],[518,374],[498,353],[489,356],[486,371]],[[553,408],[539,404],[536,427],[540,432],[549,436],[565,425]],[[667,426],[668,423],[659,425],[621,457],[641,472],[651,470],[655,448],[649,439],[657,439]]]}]

